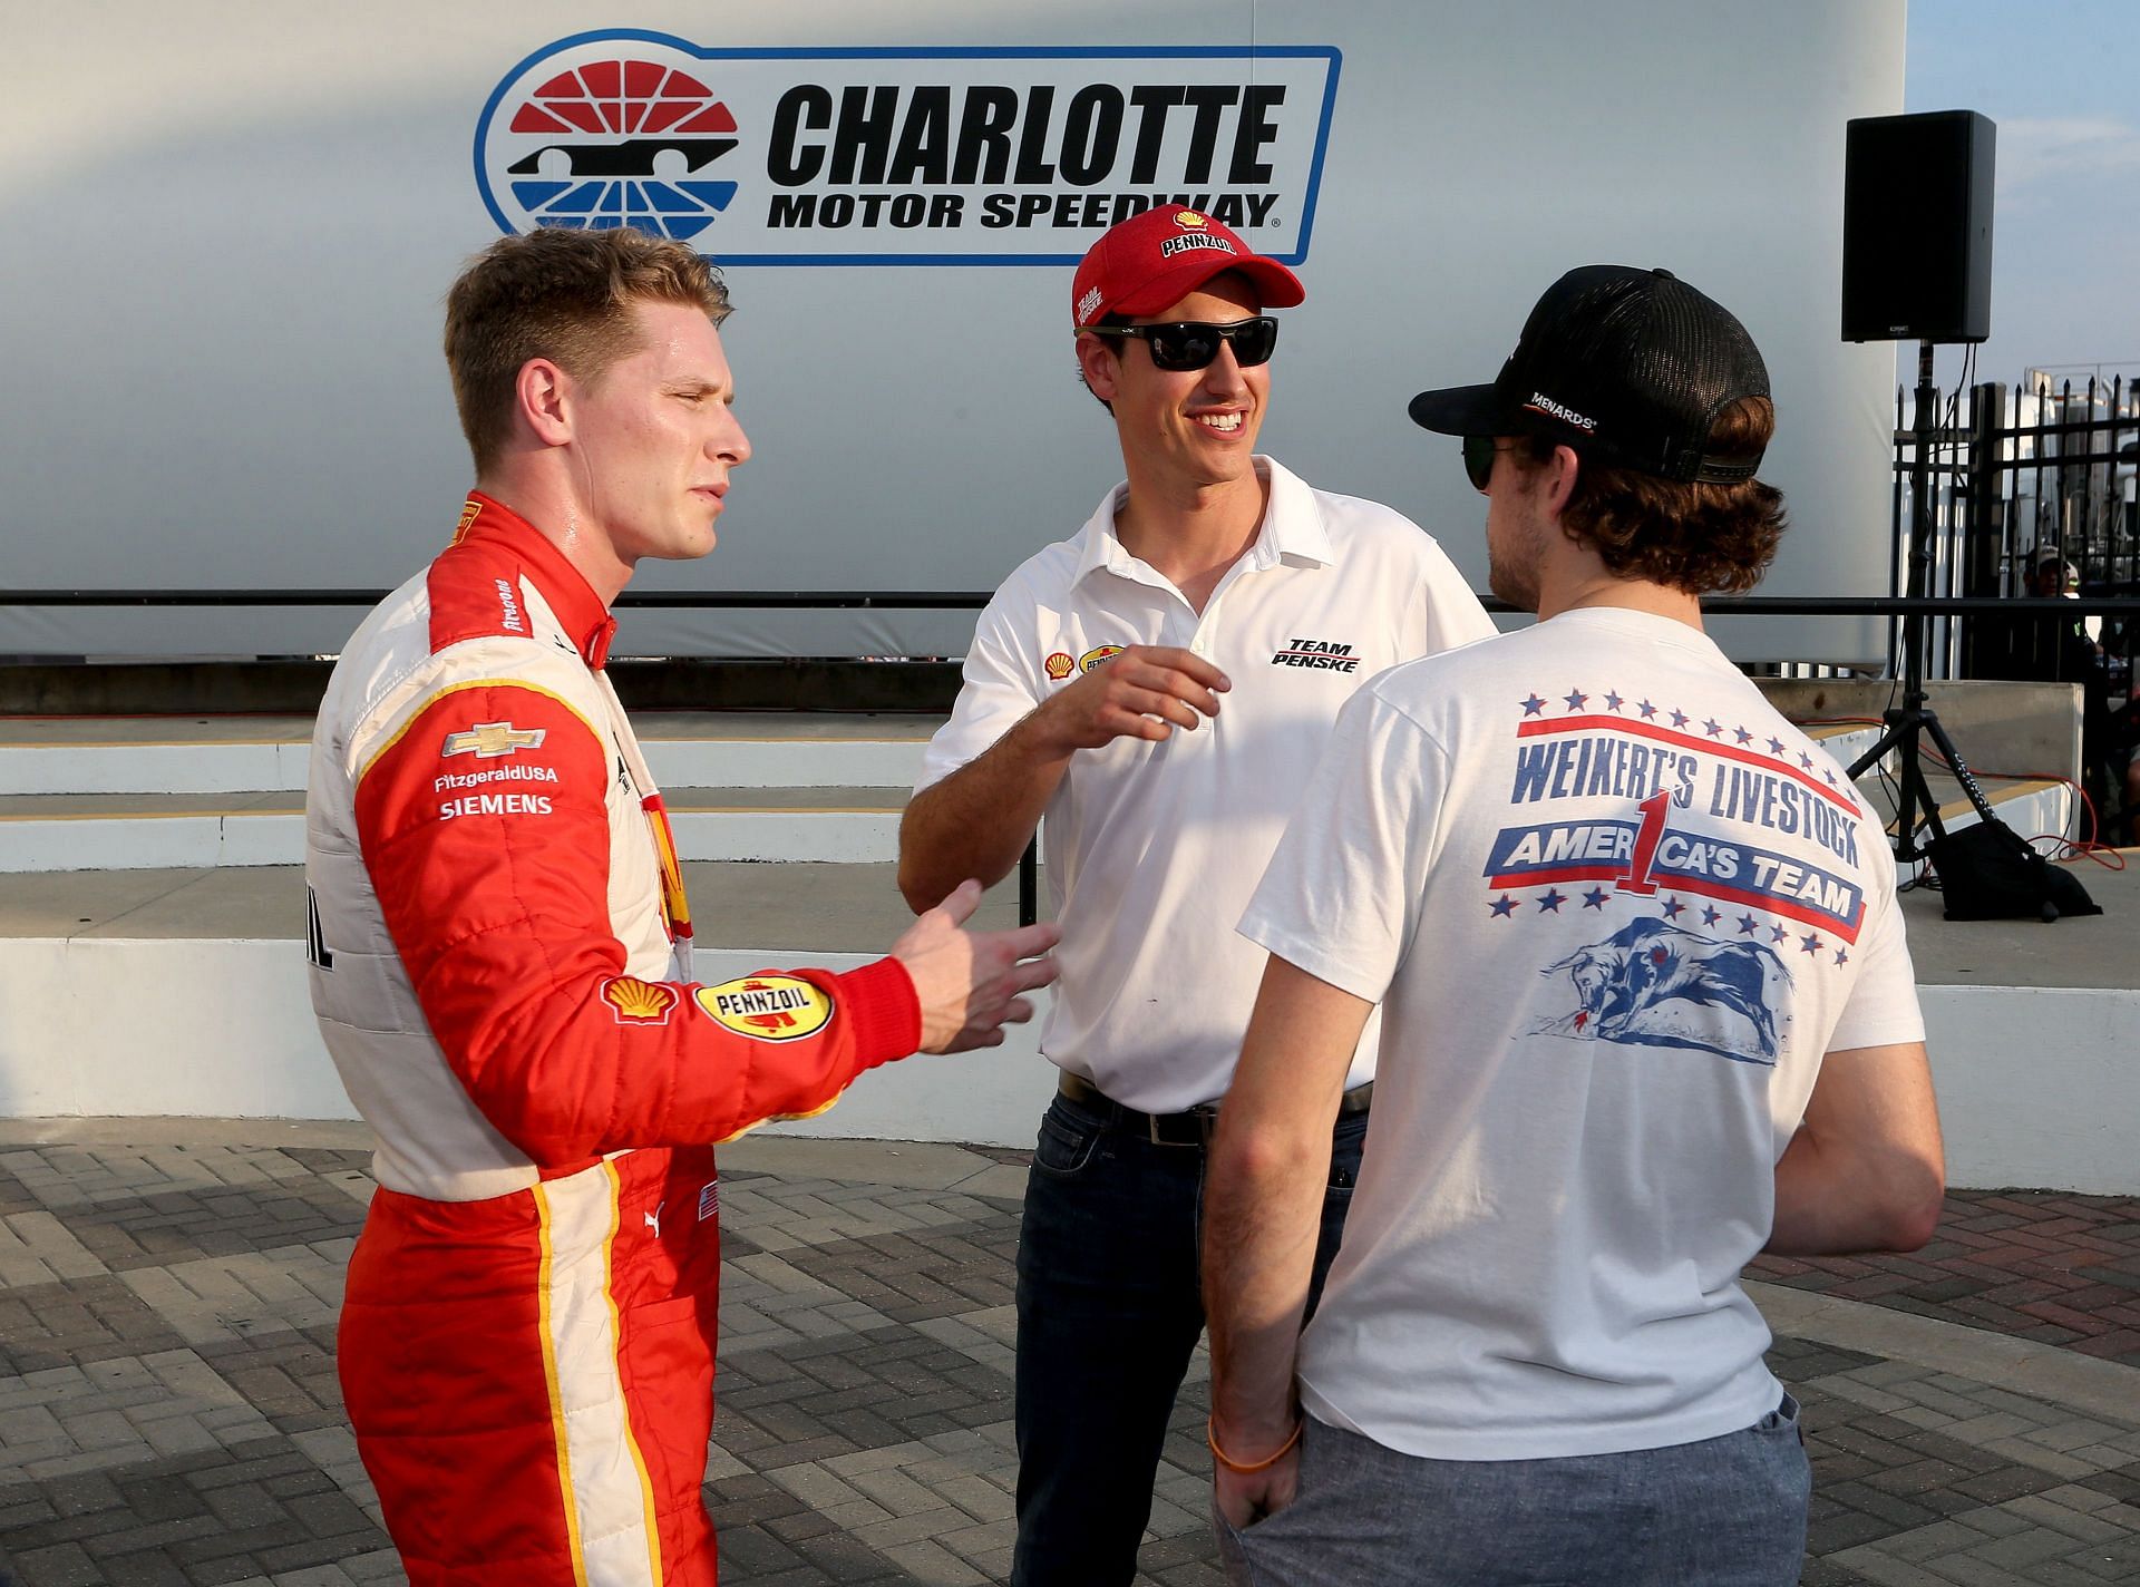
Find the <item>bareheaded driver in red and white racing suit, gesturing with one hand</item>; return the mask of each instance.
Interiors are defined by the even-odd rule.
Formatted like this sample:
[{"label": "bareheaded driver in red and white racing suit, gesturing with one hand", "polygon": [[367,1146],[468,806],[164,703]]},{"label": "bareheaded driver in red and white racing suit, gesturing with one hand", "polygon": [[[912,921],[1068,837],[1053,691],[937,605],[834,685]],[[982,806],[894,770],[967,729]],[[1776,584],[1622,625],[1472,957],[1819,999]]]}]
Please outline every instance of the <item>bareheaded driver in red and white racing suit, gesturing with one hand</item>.
[{"label": "bareheaded driver in red and white racing suit, gesturing with one hand", "polygon": [[706,261],[505,237],[454,282],[475,490],[351,637],[312,738],[312,1005],[379,1136],[340,1375],[411,1583],[713,1583],[713,1146],[916,1048],[1002,1042],[1053,928],[691,980],[668,817],[603,659],[640,558],[751,456]]}]

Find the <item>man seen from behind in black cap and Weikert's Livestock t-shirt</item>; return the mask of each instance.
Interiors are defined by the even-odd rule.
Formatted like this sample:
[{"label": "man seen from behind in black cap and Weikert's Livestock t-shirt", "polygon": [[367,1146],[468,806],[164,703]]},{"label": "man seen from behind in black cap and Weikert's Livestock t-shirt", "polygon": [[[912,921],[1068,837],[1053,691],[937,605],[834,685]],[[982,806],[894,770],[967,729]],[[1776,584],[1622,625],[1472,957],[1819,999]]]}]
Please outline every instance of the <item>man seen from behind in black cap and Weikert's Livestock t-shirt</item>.
[{"label": "man seen from behind in black cap and Weikert's Livestock t-shirt", "polygon": [[1881,821],[1701,631],[1783,533],[1768,374],[1693,287],[1590,265],[1412,417],[1464,436],[1492,588],[1541,620],[1346,706],[1241,922],[1271,958],[1205,1219],[1222,1553],[1258,1587],[1795,1583],[1806,1454],[1740,1268],[1915,1249],[1943,1168]]}]

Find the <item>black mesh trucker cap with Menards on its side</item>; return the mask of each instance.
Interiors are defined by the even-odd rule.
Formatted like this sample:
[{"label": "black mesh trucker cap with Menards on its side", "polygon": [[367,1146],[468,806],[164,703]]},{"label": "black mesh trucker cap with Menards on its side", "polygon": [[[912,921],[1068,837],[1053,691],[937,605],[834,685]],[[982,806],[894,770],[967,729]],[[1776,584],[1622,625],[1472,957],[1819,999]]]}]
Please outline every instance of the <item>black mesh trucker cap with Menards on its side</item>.
[{"label": "black mesh trucker cap with Menards on its side", "polygon": [[1746,327],[1669,269],[1584,265],[1545,289],[1492,385],[1412,398],[1451,436],[1539,434],[1663,479],[1740,483],[1759,456],[1708,456],[1716,417],[1768,396]]}]

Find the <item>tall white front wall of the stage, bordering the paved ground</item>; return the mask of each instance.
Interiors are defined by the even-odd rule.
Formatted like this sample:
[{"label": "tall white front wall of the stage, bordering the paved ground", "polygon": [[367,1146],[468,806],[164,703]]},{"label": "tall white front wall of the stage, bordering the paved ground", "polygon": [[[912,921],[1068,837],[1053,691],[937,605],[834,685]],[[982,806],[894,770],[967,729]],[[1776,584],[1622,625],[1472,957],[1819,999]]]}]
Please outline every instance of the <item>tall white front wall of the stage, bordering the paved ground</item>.
[{"label": "tall white front wall of the stage, bordering the paved ground", "polygon": [[[813,954],[852,969],[856,954]],[[794,962],[700,954],[704,980]],[[2140,1193],[2140,992],[1922,988],[1947,1176]],[[862,1076],[779,1134],[1031,1146],[1055,1069],[1038,1020],[1002,1048]],[[0,941],[0,1116],[351,1119],[293,941]]]}]

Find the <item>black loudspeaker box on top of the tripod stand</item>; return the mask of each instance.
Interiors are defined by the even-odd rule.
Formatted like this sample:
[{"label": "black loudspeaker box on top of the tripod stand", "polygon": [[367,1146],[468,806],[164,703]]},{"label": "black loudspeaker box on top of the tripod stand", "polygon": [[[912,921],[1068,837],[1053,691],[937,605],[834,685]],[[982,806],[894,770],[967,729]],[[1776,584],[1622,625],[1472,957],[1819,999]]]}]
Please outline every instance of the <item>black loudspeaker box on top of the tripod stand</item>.
[{"label": "black loudspeaker box on top of the tripod stand", "polygon": [[1992,334],[1992,122],[1864,115],[1843,154],[1843,340]]}]

